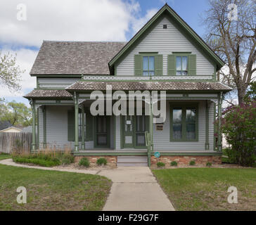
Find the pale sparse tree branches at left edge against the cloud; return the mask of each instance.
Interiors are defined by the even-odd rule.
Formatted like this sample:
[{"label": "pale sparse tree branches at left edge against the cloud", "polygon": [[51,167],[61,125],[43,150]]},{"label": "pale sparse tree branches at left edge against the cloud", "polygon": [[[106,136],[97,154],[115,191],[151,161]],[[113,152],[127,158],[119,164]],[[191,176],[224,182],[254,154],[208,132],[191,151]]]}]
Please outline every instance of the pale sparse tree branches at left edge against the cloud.
[{"label": "pale sparse tree branches at left edge against the cloud", "polygon": [[25,70],[20,70],[16,65],[16,55],[13,56],[9,52],[2,54],[0,51],[0,85],[7,86],[10,91],[18,91],[21,86],[21,73]]}]

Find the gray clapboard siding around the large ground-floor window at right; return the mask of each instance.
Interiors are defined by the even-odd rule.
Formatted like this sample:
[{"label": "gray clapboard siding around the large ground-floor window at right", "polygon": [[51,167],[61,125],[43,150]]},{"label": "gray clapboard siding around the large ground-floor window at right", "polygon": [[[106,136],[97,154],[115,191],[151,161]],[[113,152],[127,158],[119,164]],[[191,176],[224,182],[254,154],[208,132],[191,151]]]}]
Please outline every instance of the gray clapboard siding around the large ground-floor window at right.
[{"label": "gray clapboard siding around the large ground-floor window at right", "polygon": [[[190,101],[193,102],[193,101]],[[198,105],[198,141],[170,142],[169,141],[169,117],[170,109],[167,101],[167,115],[162,131],[157,131],[153,124],[154,150],[205,150],[205,101],[199,101]],[[213,150],[213,107],[211,104],[209,113],[209,141],[210,150]]]}]

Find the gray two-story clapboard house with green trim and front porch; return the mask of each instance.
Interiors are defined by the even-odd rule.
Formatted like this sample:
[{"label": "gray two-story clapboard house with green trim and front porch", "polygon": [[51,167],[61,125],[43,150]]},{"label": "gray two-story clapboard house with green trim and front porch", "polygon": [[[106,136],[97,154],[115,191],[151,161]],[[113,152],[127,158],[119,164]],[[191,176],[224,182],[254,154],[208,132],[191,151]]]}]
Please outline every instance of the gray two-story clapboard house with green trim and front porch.
[{"label": "gray two-story clapboard house with green trim and front porch", "polygon": [[[117,165],[155,164],[155,152],[168,163],[219,162],[222,134],[214,122],[231,91],[217,80],[223,65],[167,4],[128,42],[44,41],[30,72],[37,87],[25,96],[32,149],[70,146],[76,160],[105,157]],[[107,105],[108,89],[165,92],[165,121],[154,122],[153,98],[143,101],[149,114],[92,115],[91,93],[103,93]],[[127,108],[138,110],[136,103]]]}]

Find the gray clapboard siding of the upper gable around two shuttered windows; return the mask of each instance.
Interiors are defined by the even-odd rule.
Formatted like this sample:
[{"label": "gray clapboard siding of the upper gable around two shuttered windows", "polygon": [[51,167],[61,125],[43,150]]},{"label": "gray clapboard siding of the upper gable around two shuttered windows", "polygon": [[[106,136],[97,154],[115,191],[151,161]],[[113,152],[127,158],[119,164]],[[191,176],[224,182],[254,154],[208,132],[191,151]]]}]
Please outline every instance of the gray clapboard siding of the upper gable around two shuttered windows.
[{"label": "gray clapboard siding of the upper gable around two shuttered windows", "polygon": [[[167,24],[167,29],[162,25]],[[167,55],[172,51],[191,51],[196,54],[196,75],[212,75],[214,67],[167,18],[160,23],[117,65],[117,76],[134,76],[134,55],[139,52],[158,52],[163,55],[163,75],[167,75]]]}]

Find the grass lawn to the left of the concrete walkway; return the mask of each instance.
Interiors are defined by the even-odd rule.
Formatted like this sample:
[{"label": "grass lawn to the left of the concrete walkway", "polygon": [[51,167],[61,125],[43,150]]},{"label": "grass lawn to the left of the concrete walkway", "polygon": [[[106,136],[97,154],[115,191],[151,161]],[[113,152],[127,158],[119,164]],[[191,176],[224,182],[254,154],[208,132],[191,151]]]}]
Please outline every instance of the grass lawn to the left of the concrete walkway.
[{"label": "grass lawn to the left of the concrete walkway", "polygon": [[[0,210],[102,210],[111,184],[104,176],[0,165]],[[16,201],[19,186],[27,204]]]}]

